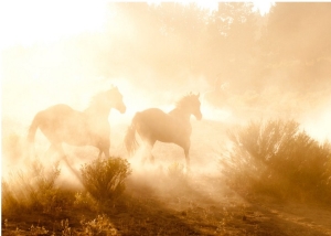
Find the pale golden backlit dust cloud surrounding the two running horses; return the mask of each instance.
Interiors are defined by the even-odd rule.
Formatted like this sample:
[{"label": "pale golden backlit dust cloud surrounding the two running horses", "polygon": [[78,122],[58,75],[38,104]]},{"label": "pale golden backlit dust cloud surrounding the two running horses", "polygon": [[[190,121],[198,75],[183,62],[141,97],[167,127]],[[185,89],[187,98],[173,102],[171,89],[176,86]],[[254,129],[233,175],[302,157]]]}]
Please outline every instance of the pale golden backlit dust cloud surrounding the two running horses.
[{"label": "pale golden backlit dust cloud surrounding the two running horses", "polygon": [[[267,17],[250,14],[249,11],[247,15],[241,15],[245,13],[241,9],[249,10],[249,6],[234,6],[238,11],[228,11],[227,4],[223,7],[220,3],[217,13],[206,12],[194,4],[108,3],[103,6],[106,14],[100,20],[103,28],[98,25],[97,31],[82,29],[62,35],[66,29],[55,40],[35,35],[35,41],[31,37],[25,43],[3,47],[2,175],[26,167],[31,157],[25,151],[25,137],[38,111],[55,104],[84,110],[95,94],[109,89],[111,85],[124,95],[127,111],[110,111],[110,153],[129,159],[136,170],[132,175],[136,181],[148,182],[158,179],[158,174],[166,176],[173,163],[184,163],[184,154],[177,146],[157,143],[154,165],[142,164],[141,153],[129,158],[122,140],[134,115],[150,107],[170,111],[175,101],[190,92],[201,93],[203,114],[201,122],[192,119],[190,152],[192,172],[196,174],[220,174],[217,159],[228,147],[226,130],[250,119],[292,118],[316,139],[331,140],[330,55],[308,57],[313,51],[305,55],[307,58],[302,55],[302,62],[297,62],[298,58],[292,62],[288,57],[296,53],[289,56],[277,54],[278,57],[268,57],[266,62],[264,58],[274,53],[269,52],[273,46],[266,39],[274,36],[276,40],[276,36],[260,36],[258,42],[266,47],[256,49],[259,45],[254,44],[256,36],[264,31],[252,22],[256,20],[260,25],[269,25],[274,33],[280,31],[281,25],[276,25],[275,21],[277,4],[273,7],[275,11],[270,13],[269,24],[266,23]],[[280,4],[279,11],[282,8]],[[42,7],[40,9],[49,12]],[[31,8],[29,10],[34,13]],[[61,12],[61,8],[57,11]],[[232,14],[232,20],[224,14]],[[70,21],[71,13],[66,15]],[[95,15],[98,12],[88,19]],[[19,13],[15,17],[19,18]],[[245,20],[238,21],[242,17]],[[300,18],[299,13],[297,17]],[[42,18],[35,21],[40,22]],[[86,23],[82,19],[78,25]],[[61,23],[57,19],[53,23],[58,30],[67,22]],[[52,25],[46,28],[47,32],[52,31]],[[28,33],[35,30],[40,33],[42,29]],[[323,25],[320,31],[323,31]],[[301,34],[297,32],[289,41],[296,42]],[[245,36],[249,42],[243,40]],[[277,43],[284,41],[282,37],[277,40]],[[309,40],[311,45],[318,44],[313,39]],[[255,49],[254,52],[250,49]],[[307,65],[308,62],[312,64]],[[40,131],[35,140],[34,149],[44,163],[57,161],[45,155],[49,142]],[[64,146],[64,149],[77,170],[90,157],[97,155],[94,148]],[[65,165],[63,175],[62,182],[75,179]]]}]

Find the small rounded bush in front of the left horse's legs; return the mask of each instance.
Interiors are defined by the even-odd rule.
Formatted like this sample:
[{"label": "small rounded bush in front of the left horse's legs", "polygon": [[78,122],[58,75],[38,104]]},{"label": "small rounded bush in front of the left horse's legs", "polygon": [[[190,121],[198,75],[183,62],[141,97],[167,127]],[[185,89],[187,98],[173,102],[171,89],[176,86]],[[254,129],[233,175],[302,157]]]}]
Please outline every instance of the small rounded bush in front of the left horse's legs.
[{"label": "small rounded bush in front of the left horse's legs", "polygon": [[99,203],[115,201],[125,190],[131,173],[129,162],[121,158],[96,159],[82,167],[82,182]]}]

